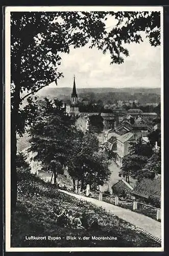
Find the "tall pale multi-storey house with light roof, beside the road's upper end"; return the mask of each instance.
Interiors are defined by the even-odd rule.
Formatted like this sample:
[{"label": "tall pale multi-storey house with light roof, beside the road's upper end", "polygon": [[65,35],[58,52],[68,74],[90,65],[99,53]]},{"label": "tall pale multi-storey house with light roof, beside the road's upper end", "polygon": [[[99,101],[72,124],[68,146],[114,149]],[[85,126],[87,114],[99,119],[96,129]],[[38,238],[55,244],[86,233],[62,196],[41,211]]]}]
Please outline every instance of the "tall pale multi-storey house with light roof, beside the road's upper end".
[{"label": "tall pale multi-storey house with light roof, beside the road's upper end", "polygon": [[117,137],[117,164],[122,167],[122,161],[129,154],[130,143],[134,141],[134,134],[129,132]]}]

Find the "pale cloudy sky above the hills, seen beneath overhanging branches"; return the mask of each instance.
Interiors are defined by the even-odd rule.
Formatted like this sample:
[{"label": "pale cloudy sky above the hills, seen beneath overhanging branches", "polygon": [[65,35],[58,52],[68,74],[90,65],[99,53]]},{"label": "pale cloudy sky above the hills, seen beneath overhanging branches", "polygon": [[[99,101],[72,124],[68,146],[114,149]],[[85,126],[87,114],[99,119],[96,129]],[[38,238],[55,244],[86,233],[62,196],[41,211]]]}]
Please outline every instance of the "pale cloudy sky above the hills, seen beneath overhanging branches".
[{"label": "pale cloudy sky above the hills, seen beneath overhanging branches", "polygon": [[[108,30],[115,22],[108,20]],[[109,26],[111,28],[109,28]],[[126,45],[129,57],[123,64],[110,65],[110,54],[105,55],[96,48],[88,46],[62,54],[61,66],[64,78],[58,81],[58,87],[72,87],[74,74],[77,88],[97,87],[160,87],[160,47],[152,47],[147,38],[140,44]],[[55,83],[50,87],[56,87]]]}]

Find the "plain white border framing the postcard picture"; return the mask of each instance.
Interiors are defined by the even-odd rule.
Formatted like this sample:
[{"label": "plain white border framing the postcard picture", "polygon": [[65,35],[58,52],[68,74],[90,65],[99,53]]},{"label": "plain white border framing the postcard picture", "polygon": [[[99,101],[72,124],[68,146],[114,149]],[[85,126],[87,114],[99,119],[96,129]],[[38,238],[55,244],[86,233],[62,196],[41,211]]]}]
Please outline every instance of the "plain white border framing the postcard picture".
[{"label": "plain white border framing the postcard picture", "polygon": [[[11,247],[11,156],[10,156],[10,12],[15,11],[160,11],[161,21],[161,247],[66,247],[66,248],[48,248],[33,247],[19,248]],[[164,251],[164,150],[163,150],[163,7],[161,6],[8,6],[5,7],[5,241],[7,252],[40,252],[40,251]]]}]

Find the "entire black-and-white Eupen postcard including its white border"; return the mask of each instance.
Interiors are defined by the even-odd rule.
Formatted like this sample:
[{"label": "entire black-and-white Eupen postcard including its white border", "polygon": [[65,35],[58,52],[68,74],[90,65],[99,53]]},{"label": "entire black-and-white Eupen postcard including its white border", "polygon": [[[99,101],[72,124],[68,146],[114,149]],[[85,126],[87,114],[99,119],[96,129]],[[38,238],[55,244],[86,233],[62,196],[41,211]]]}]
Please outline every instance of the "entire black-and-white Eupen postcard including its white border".
[{"label": "entire black-and-white Eupen postcard including its white border", "polygon": [[163,9],[5,8],[6,251],[163,251]]}]

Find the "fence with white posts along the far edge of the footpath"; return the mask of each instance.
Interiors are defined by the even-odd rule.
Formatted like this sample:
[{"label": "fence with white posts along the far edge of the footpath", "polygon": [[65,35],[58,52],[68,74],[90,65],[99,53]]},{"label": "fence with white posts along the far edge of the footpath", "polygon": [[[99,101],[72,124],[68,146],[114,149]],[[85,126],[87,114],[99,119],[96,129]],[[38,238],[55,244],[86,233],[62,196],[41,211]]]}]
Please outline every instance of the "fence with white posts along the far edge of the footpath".
[{"label": "fence with white posts along the far edge of the footpath", "polygon": [[[91,194],[89,196],[91,196]],[[122,199],[117,196],[108,195],[106,193],[101,193],[98,191],[93,192],[92,197],[95,199],[99,199],[100,201],[104,201],[122,208],[136,211],[139,214],[146,215],[157,221],[161,220],[161,209],[154,207],[152,205],[144,204],[142,202],[135,201],[132,199]]]}]

